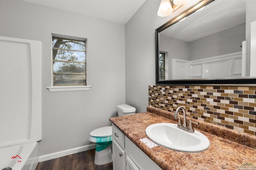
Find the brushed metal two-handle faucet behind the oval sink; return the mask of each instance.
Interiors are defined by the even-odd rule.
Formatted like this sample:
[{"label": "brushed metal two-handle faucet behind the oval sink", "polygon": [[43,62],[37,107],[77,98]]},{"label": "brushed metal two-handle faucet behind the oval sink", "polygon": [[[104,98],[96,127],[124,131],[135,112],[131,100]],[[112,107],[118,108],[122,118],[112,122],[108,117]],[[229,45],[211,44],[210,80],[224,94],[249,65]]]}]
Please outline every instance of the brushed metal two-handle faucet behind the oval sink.
[{"label": "brushed metal two-handle faucet behind the oval sink", "polygon": [[[184,118],[184,119],[183,119],[183,125],[182,125],[182,123],[181,123],[180,117],[177,116],[177,115],[178,115],[178,112],[180,111],[180,109],[183,111],[183,118]],[[187,131],[187,132],[194,133],[195,130],[194,130],[193,126],[192,126],[192,123],[198,125],[198,122],[194,122],[194,121],[190,120],[189,123],[187,124],[186,116],[187,116],[187,115],[186,115],[186,111],[185,111],[185,108],[184,108],[184,107],[180,106],[180,107],[178,107],[178,108],[176,109],[175,114],[174,114],[174,118],[175,118],[175,119],[178,118],[178,125],[177,125],[177,127],[180,128],[180,129],[182,129],[182,130],[185,130],[185,131]]]}]

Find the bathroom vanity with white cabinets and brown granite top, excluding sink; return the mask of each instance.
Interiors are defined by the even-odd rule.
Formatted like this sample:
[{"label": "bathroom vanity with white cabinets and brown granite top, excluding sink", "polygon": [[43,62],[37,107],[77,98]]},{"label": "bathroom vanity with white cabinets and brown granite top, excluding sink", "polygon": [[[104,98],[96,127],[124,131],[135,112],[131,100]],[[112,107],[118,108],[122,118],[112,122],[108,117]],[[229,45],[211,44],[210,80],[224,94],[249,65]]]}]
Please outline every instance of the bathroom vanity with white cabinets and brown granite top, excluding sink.
[{"label": "bathroom vanity with white cabinets and brown granite top, excluding sink", "polygon": [[113,126],[113,169],[210,170],[237,169],[244,163],[256,164],[256,136],[201,121],[194,127],[210,141],[209,148],[202,152],[180,152],[163,146],[149,148],[140,141],[148,138],[145,129],[149,125],[177,123],[173,115],[148,107],[145,113],[110,118]]}]

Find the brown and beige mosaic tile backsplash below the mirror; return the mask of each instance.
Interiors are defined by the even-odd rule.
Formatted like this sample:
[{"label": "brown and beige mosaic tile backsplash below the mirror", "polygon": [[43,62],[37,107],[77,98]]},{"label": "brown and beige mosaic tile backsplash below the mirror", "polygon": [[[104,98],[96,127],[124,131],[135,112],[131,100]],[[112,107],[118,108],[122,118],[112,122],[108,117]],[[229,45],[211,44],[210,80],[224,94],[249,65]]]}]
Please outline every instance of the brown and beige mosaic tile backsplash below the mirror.
[{"label": "brown and beige mosaic tile backsplash below the mirror", "polygon": [[[256,135],[256,87],[149,86],[149,106]],[[181,114],[181,113],[180,113]]]}]

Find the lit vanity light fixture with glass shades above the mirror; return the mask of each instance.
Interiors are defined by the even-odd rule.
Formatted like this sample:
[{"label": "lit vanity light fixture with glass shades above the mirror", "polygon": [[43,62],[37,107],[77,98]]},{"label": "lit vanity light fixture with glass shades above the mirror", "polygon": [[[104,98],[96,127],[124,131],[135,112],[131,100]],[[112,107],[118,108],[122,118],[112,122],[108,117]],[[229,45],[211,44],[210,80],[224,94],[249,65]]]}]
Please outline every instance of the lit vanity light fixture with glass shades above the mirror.
[{"label": "lit vanity light fixture with glass shades above the mirror", "polygon": [[161,0],[157,15],[161,17],[168,16],[188,1],[189,0]]}]

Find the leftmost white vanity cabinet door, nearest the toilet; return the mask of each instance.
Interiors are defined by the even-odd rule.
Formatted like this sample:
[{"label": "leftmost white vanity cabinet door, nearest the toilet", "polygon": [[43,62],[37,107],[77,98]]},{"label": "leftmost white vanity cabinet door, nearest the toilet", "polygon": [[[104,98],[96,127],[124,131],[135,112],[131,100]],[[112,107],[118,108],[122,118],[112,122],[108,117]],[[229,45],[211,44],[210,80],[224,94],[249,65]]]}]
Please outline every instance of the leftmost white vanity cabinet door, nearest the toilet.
[{"label": "leftmost white vanity cabinet door, nearest the toilet", "polygon": [[116,142],[115,139],[112,140],[113,143],[113,170],[125,170],[125,151]]}]

